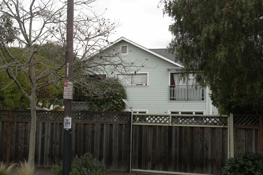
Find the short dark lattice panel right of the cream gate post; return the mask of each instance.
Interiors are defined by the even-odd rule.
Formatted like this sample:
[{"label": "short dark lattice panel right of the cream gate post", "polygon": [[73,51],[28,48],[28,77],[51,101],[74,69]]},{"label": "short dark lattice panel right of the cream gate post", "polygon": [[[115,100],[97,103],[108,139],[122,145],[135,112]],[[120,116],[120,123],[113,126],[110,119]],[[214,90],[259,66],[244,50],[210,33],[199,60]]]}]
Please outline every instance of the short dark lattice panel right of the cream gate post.
[{"label": "short dark lattice panel right of the cream gate post", "polygon": [[256,115],[234,115],[235,126],[259,126],[259,116]]}]

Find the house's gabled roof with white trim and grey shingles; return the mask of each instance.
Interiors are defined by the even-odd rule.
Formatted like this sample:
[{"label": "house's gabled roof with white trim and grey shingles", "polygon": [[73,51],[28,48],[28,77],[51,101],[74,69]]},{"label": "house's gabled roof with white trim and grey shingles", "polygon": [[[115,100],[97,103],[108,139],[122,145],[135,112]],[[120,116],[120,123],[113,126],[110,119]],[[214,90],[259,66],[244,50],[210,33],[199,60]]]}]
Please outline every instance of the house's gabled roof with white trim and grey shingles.
[{"label": "house's gabled roof with white trim and grey shingles", "polygon": [[110,47],[110,46],[112,46],[112,45],[114,45],[114,44],[116,44],[116,43],[118,43],[118,42],[120,42],[122,40],[124,40],[124,41],[126,41],[126,42],[128,42],[130,44],[133,44],[133,45],[135,45],[135,46],[137,46],[137,47],[139,47],[139,48],[141,48],[141,49],[143,49],[143,50],[145,50],[147,52],[150,52],[151,54],[156,55],[156,56],[158,56],[158,57],[160,57],[160,58],[162,58],[162,59],[164,59],[166,61],[169,61],[170,63],[173,63],[176,66],[183,67],[180,63],[174,61],[175,58],[174,58],[174,56],[172,54],[169,54],[168,52],[165,52],[166,49],[147,49],[147,48],[145,48],[145,47],[143,47],[143,46],[141,46],[139,44],[136,44],[133,41],[130,41],[130,40],[124,38],[124,37],[121,37],[121,38],[117,39],[116,41],[114,41],[112,44],[107,45],[106,48],[108,48],[108,47]]}]

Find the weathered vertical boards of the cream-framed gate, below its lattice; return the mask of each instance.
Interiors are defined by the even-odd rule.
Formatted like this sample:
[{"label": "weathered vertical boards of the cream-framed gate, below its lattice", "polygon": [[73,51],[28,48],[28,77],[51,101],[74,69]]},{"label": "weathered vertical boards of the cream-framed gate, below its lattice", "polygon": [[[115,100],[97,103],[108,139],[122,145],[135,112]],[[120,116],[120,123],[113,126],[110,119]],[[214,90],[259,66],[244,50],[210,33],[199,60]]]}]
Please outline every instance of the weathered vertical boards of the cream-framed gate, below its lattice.
[{"label": "weathered vertical boards of the cream-framed gate, below its lattice", "polygon": [[132,169],[220,174],[227,159],[227,128],[133,125],[132,137]]}]

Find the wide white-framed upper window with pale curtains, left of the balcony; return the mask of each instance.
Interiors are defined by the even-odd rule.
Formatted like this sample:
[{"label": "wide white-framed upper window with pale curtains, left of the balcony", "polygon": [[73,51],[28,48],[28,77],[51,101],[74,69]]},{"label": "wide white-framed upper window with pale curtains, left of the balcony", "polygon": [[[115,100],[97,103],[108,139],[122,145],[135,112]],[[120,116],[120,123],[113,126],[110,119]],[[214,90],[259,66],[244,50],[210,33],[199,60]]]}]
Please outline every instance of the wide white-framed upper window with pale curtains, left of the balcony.
[{"label": "wide white-framed upper window with pale curtains, left of the balcony", "polygon": [[148,73],[118,74],[117,78],[124,86],[148,85]]}]

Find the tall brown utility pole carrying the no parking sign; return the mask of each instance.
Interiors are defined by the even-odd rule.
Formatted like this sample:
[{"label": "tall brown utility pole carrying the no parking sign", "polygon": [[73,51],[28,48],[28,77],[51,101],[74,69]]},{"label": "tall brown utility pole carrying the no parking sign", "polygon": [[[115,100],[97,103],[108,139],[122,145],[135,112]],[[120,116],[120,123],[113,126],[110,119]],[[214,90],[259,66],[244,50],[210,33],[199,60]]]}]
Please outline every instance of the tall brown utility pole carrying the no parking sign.
[{"label": "tall brown utility pole carrying the no parking sign", "polygon": [[[66,80],[73,82],[73,26],[74,0],[68,0],[67,9],[67,43],[66,43]],[[73,88],[73,87],[72,87]],[[72,89],[73,90],[73,89]],[[72,118],[72,99],[65,99],[64,117]],[[71,170],[72,129],[64,129],[62,174],[68,175]]]}]

